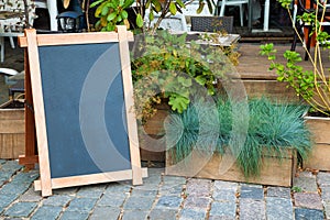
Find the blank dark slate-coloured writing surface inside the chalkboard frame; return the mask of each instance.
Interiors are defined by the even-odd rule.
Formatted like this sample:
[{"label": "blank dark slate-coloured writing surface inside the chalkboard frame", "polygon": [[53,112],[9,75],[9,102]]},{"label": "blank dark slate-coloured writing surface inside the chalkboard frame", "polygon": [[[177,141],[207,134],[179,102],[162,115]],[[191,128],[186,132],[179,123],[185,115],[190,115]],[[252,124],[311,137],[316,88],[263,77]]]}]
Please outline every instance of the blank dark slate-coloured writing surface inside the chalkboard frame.
[{"label": "blank dark slate-coloured writing surface inside the chalkboard frame", "polygon": [[[44,46],[38,54],[52,178],[130,169],[119,43]],[[82,87],[90,78],[98,80],[86,89],[90,96],[81,100]],[[81,121],[79,107],[89,113]],[[103,116],[100,108],[105,108]],[[99,135],[102,122],[113,144]],[[94,138],[88,145],[81,123],[92,127],[85,132]],[[102,162],[101,167],[97,162]]]}]

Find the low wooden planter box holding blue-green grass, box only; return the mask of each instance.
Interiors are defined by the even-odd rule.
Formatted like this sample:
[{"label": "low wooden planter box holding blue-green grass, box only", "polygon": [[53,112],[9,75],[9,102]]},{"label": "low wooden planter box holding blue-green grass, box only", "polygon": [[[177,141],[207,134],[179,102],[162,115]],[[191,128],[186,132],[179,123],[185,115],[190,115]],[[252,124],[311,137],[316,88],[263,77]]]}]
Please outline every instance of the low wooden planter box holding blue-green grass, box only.
[{"label": "low wooden planter box holding blue-green grass, box only", "polygon": [[[223,174],[219,173],[219,165],[226,160],[224,164],[229,164],[233,158],[230,155],[221,156],[215,153],[209,160],[205,160],[204,155],[191,154],[191,158],[185,163],[173,164],[170,154],[166,153],[166,175],[199,177],[208,179],[241,182],[261,185],[292,187],[293,177],[296,173],[296,154],[288,150],[284,157],[278,158],[274,155],[264,154],[263,166],[260,176],[244,177],[244,174],[234,162],[231,167],[224,169]],[[228,160],[228,161],[227,161]]]}]

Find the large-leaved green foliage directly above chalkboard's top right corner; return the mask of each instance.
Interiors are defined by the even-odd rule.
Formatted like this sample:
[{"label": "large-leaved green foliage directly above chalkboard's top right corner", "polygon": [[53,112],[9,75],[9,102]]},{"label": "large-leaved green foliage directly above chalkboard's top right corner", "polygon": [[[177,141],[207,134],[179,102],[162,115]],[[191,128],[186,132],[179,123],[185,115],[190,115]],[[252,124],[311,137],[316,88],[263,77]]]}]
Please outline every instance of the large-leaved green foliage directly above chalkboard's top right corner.
[{"label": "large-leaved green foliage directly above chalkboard's top right corner", "polygon": [[[90,8],[97,7],[95,16],[99,21],[95,24],[98,31],[114,31],[116,25],[124,24],[130,28],[129,13],[125,9],[133,4],[134,0],[97,0],[90,4]],[[141,24],[136,19],[138,25]],[[143,22],[142,22],[143,23]]]}]

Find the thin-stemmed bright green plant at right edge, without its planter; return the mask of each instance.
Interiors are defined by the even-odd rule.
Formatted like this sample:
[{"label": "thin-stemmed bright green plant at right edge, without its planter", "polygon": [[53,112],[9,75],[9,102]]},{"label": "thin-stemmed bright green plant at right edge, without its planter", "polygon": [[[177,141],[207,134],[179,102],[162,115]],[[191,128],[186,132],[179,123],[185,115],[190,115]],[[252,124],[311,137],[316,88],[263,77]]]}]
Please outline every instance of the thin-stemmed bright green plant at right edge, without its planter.
[{"label": "thin-stemmed bright green plant at right edge, without its planter", "polygon": [[[289,10],[289,0],[279,0],[283,7],[288,10],[289,16],[293,20]],[[328,69],[323,66],[321,51],[330,48],[330,36],[322,31],[320,21],[323,21],[324,13],[321,18],[318,16],[320,9],[323,9],[321,1],[316,1],[316,9],[310,12],[305,12],[298,19],[311,26],[310,36],[316,38],[314,53],[310,53],[304,38],[299,34],[299,30],[295,26],[295,32],[307,53],[312,70],[306,70],[299,65],[302,61],[297,52],[286,51],[283,56],[286,59],[285,64],[276,62],[277,51],[273,44],[265,44],[261,46],[261,54],[268,57],[271,61],[270,69],[275,69],[278,81],[285,81],[289,87],[294,88],[297,95],[306,100],[315,111],[330,116],[330,81],[327,78]],[[323,10],[324,11],[324,10]],[[293,21],[294,22],[294,21]]]}]

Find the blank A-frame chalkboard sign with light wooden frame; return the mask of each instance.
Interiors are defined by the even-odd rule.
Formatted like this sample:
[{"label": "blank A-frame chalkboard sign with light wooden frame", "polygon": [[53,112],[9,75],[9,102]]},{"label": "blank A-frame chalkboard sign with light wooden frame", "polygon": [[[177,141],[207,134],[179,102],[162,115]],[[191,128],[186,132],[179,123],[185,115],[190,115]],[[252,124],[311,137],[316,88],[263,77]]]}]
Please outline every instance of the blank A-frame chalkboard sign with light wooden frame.
[{"label": "blank A-frame chalkboard sign with light wooden frame", "polygon": [[32,95],[38,152],[41,179],[34,187],[43,196],[124,179],[141,185],[147,176],[133,110],[131,40],[125,26],[72,34],[31,29],[19,38],[26,52],[31,88],[25,90]]}]

